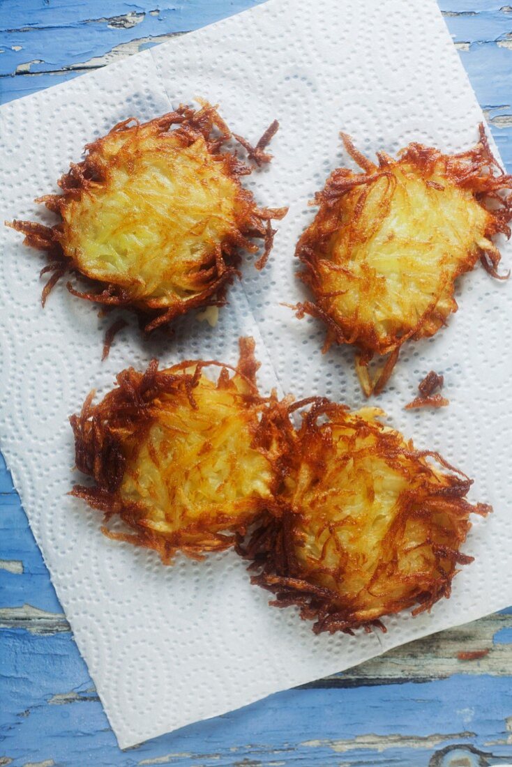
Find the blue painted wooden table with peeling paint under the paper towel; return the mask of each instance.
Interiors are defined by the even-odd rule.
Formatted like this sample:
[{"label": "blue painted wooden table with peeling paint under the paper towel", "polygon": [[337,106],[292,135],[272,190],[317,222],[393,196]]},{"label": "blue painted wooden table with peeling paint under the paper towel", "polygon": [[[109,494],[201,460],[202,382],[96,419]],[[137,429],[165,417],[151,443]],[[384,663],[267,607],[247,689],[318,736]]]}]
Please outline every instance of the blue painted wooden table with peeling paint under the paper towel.
[{"label": "blue painted wooden table with peeling paint under the paper towel", "polygon": [[[256,4],[0,0],[2,102]],[[512,7],[441,8],[512,170]],[[121,752],[2,465],[0,685],[12,767],[512,764],[512,609]]]}]

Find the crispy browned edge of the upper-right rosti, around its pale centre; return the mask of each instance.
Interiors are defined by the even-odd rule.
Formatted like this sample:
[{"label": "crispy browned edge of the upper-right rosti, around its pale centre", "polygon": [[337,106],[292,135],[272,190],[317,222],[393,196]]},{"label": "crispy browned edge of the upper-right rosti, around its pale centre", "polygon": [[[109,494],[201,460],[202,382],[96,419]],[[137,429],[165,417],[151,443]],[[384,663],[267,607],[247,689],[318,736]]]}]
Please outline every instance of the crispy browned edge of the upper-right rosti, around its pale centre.
[{"label": "crispy browned edge of the upper-right rosti, around its pale centre", "polygon": [[[466,189],[471,189],[474,198],[489,213],[489,225],[484,232],[485,237],[490,239],[498,232],[510,237],[508,222],[512,219],[512,196],[501,196],[500,192],[512,189],[512,176],[507,176],[495,160],[484,125],[479,126],[480,140],[472,149],[454,155],[443,155],[439,150],[423,146],[419,143],[410,143],[399,153],[398,160],[394,160],[384,152],[378,153],[378,165],[368,160],[360,153],[352,143],[352,139],[342,133],[345,150],[362,168],[362,173],[354,173],[348,168],[341,167],[334,170],[325,183],[324,189],[316,193],[312,204],[319,206],[312,224],[302,233],[296,245],[296,257],[302,262],[303,270],[298,272],[299,278],[309,286],[314,296],[313,301],[304,301],[294,307],[298,318],[304,314],[310,314],[318,318],[327,326],[327,334],[323,351],[327,351],[330,345],[354,344],[358,350],[356,354],[356,366],[365,380],[363,389],[367,397],[372,393],[378,394],[385,387],[391,375],[393,367],[398,360],[401,345],[408,339],[417,341],[424,335],[437,332],[444,324],[444,318],[436,317],[436,308],[432,306],[418,321],[418,324],[407,334],[395,337],[394,343],[385,351],[378,349],[378,339],[371,323],[358,324],[356,328],[342,328],[341,324],[329,308],[329,298],[322,290],[322,276],[317,268],[319,258],[325,253],[325,249],[333,233],[339,227],[339,204],[342,198],[356,186],[371,184],[378,176],[386,175],[386,168],[396,163],[413,163],[420,170],[427,170],[432,163],[444,159],[447,162],[448,176],[451,181]],[[432,184],[434,184],[432,182]],[[435,185],[434,185],[435,186]],[[487,203],[491,202],[491,207]],[[363,203],[364,204],[364,203]],[[481,264],[494,278],[505,279],[508,275],[498,275],[497,267],[500,262],[500,253],[497,249],[481,251]],[[454,276],[455,279],[474,268],[469,261],[462,263]],[[453,286],[454,289],[454,286]],[[427,326],[432,320],[437,321],[438,327],[428,332]],[[356,338],[357,336],[357,338]],[[368,364],[374,354],[388,355],[385,365],[378,370],[374,380],[370,380]]]}]

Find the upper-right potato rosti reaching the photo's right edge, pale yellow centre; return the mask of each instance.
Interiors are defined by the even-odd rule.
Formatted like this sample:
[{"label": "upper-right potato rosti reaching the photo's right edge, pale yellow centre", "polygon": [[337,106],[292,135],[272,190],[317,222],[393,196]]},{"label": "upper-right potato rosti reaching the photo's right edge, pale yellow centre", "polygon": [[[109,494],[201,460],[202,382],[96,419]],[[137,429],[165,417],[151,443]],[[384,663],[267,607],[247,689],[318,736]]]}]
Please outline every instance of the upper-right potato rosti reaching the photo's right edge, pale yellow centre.
[{"label": "upper-right potato rosti reaching the photo's right edge, pale yellow centre", "polygon": [[[296,248],[315,301],[298,313],[325,322],[325,349],[333,341],[357,347],[369,396],[384,387],[405,341],[434,335],[457,311],[459,275],[480,260],[498,276],[492,237],[510,236],[512,176],[494,160],[483,126],[467,152],[411,143],[397,160],[378,153],[378,163],[342,138],[362,173],[335,170],[315,197],[319,212]],[[370,374],[375,354],[388,359]]]}]

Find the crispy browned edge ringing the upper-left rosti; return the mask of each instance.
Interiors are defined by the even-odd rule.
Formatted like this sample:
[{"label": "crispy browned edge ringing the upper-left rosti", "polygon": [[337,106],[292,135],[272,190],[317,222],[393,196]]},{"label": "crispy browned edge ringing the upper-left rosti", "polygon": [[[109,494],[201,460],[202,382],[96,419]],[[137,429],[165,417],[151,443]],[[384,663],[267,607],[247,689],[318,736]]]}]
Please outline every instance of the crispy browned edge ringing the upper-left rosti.
[{"label": "crispy browned edge ringing the upper-left rosti", "polygon": [[[203,103],[199,110],[194,110],[193,107],[180,106],[177,110],[165,114],[163,117],[157,117],[143,124],[144,127],[152,127],[157,134],[166,133],[172,126],[177,126],[173,130],[180,140],[183,141],[183,146],[190,146],[198,137],[202,136],[210,153],[220,163],[223,163],[224,172],[236,182],[239,199],[243,199],[249,205],[249,216],[237,222],[239,231],[221,242],[215,255],[200,270],[198,280],[203,289],[193,298],[188,300],[178,299],[171,308],[150,308],[150,306],[144,305],[144,302],[141,304],[140,301],[132,300],[127,291],[113,283],[91,280],[86,275],[81,274],[78,264],[65,252],[65,242],[62,236],[63,226],[61,223],[51,227],[35,222],[18,220],[5,223],[18,230],[18,232],[25,234],[25,245],[43,250],[48,255],[48,265],[41,269],[41,275],[51,273],[51,277],[41,295],[43,306],[48,298],[48,294],[58,280],[63,275],[72,273],[80,276],[90,286],[87,290],[78,291],[77,288],[74,288],[68,282],[68,290],[73,295],[84,298],[87,301],[103,304],[105,308],[122,307],[130,309],[137,314],[140,327],[144,328],[144,331],[147,333],[150,333],[155,328],[170,323],[180,314],[185,314],[193,308],[225,304],[226,286],[233,281],[234,275],[239,274],[238,267],[241,262],[241,251],[245,249],[249,252],[256,252],[258,246],[251,242],[251,240],[263,240],[263,255],[259,257],[255,264],[256,268],[263,268],[272,250],[273,238],[276,233],[271,225],[272,219],[282,219],[286,215],[287,208],[273,209],[256,206],[253,194],[244,189],[239,180],[240,176],[252,173],[252,169],[246,163],[241,162],[236,153],[222,151],[226,142],[233,137],[246,149],[250,160],[253,160],[257,165],[268,163],[272,156],[266,153],[265,149],[279,128],[277,120],[274,120],[269,128],[267,128],[254,147],[242,137],[232,134],[220,117],[220,114],[216,111],[216,108],[206,104],[206,102]],[[131,117],[129,120],[124,120],[114,125],[107,135],[127,130],[136,130],[139,126],[139,121]],[[95,160],[95,156],[101,150],[101,145],[105,138],[101,137],[88,144],[85,147],[88,152],[85,159],[81,163],[71,164],[68,173],[65,173],[58,181],[58,186],[61,187],[63,192],[61,195],[45,195],[36,199],[36,202],[45,202],[45,205],[50,210],[61,215],[62,211],[72,200],[80,199],[83,194],[87,194],[91,183],[97,184],[101,182],[103,180],[101,166]],[[113,336],[114,333],[110,331],[110,338],[107,338],[105,341],[105,351],[108,351]]]}]

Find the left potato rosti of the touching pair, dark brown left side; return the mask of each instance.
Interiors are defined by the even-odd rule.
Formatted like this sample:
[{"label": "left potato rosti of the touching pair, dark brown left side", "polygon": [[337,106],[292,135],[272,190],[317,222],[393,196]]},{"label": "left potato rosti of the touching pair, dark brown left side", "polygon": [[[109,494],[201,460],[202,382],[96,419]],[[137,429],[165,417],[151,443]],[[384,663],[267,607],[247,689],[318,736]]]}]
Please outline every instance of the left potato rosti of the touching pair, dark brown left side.
[{"label": "left potato rosti of the touching pair, dark brown left side", "polygon": [[[117,376],[94,405],[94,392],[72,416],[76,466],[95,486],[73,494],[133,533],[107,534],[156,549],[170,561],[233,544],[258,512],[273,506],[279,433],[272,400],[259,397],[252,339],[240,342],[232,374],[217,362],[184,362]],[[218,380],[205,368],[220,367]]]}]

